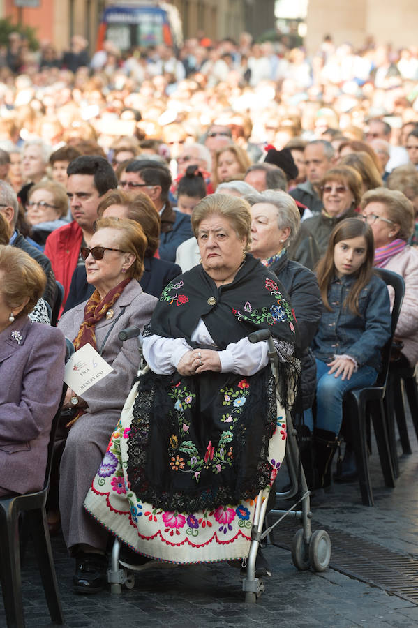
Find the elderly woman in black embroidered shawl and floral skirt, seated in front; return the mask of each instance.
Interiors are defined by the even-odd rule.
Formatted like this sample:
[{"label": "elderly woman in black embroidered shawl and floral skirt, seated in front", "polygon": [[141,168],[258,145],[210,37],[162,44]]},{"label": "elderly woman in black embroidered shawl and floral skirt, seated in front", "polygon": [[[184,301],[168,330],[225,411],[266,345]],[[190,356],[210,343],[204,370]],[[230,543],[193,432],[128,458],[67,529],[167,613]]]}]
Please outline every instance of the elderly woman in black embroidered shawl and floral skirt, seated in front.
[{"label": "elderly woman in black embroidered shawl and floral skirt, seated in front", "polygon": [[[192,225],[202,263],[161,295],[144,334],[147,367],[84,502],[142,557],[181,563],[248,555],[254,500],[283,459],[299,371],[288,297],[247,253],[248,203],[207,196]],[[263,328],[278,351],[277,388],[267,343],[248,341]]]}]

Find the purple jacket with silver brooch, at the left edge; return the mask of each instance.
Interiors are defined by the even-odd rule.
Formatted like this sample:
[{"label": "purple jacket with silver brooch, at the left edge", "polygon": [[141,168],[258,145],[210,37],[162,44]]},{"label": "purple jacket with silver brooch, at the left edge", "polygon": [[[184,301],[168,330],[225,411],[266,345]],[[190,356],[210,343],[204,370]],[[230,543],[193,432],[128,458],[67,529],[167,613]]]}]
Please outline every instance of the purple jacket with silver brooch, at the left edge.
[{"label": "purple jacket with silver brooch, at the left edge", "polygon": [[43,488],[65,354],[62,332],[27,316],[0,333],[0,486],[10,493]]}]

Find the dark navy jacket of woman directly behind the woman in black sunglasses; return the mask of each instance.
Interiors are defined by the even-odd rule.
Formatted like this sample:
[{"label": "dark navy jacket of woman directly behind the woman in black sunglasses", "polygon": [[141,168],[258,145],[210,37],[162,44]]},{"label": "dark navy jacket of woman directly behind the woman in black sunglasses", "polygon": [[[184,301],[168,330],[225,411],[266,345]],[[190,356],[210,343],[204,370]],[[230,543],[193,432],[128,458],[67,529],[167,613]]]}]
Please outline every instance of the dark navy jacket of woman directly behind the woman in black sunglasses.
[{"label": "dark navy jacket of woman directly behind the woman in black sunglasses", "polygon": [[[181,268],[177,264],[172,264],[172,262],[167,262],[166,260],[158,260],[157,257],[145,257],[144,274],[142,275],[140,286],[144,292],[159,298],[167,283],[180,274]],[[93,292],[94,286],[87,283],[84,264],[77,266],[71,279],[70,292],[68,293],[64,312],[68,312],[76,305],[87,301]]]}]

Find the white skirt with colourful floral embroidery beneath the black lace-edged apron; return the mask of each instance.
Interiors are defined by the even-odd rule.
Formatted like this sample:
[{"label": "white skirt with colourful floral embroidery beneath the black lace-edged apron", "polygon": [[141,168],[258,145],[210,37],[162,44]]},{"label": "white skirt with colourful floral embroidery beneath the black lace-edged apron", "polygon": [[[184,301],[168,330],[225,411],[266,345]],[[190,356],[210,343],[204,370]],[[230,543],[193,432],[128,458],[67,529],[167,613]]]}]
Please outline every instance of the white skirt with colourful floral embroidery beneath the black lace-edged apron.
[{"label": "white skirt with colourful floral embroidery beneath the black lace-edged apron", "polygon": [[[128,435],[137,385],[130,391],[121,419],[112,434],[100,470],[84,508],[107,530],[137,553],[176,563],[214,562],[248,555],[257,495],[239,504],[213,510],[180,513],[156,509],[137,499],[126,474]],[[269,442],[271,481],[268,497],[285,456],[285,411],[277,398],[276,431]]]}]

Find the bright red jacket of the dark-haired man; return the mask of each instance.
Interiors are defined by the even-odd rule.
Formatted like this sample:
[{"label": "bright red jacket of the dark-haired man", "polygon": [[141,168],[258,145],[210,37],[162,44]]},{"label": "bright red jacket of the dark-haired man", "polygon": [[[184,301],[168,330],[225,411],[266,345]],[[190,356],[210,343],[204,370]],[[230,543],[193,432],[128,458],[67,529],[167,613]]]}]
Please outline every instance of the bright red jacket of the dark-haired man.
[{"label": "bright red jacket of the dark-haired man", "polygon": [[68,297],[73,272],[77,267],[82,239],[82,228],[75,220],[54,230],[47,237],[44,253],[51,260],[55,278],[64,285],[61,312]]}]

